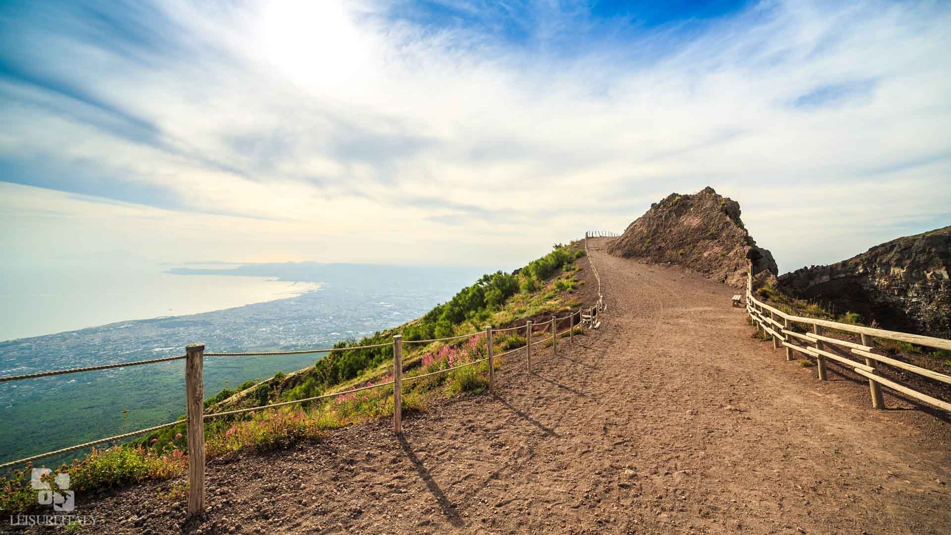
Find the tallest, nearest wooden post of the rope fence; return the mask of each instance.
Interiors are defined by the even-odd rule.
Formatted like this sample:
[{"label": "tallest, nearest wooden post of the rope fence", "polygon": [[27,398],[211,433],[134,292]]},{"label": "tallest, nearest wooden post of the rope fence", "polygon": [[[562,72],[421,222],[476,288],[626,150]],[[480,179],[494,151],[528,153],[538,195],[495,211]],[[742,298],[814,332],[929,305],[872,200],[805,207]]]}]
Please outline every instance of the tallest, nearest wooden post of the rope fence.
[{"label": "tallest, nearest wooden post of the rope fence", "polygon": [[204,511],[204,344],[184,347],[188,417],[188,516]]}]

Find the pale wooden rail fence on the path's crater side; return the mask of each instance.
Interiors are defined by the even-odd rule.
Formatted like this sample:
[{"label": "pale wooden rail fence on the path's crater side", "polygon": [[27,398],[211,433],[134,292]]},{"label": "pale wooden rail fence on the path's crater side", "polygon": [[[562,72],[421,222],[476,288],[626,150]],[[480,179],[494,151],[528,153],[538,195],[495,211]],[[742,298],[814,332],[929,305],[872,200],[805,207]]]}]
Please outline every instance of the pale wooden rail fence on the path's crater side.
[{"label": "pale wooden rail fence on the path's crater side", "polygon": [[[752,263],[748,261],[747,269],[747,314],[749,315],[750,322],[758,329],[762,329],[763,332],[765,332],[772,339],[773,347],[786,347],[786,359],[791,360],[791,351],[799,351],[814,357],[819,368],[819,379],[822,381],[826,380],[826,360],[833,360],[842,363],[844,366],[849,367],[851,370],[855,371],[868,380],[868,388],[869,392],[871,393],[872,406],[874,408],[884,408],[882,386],[887,386],[930,406],[937,406],[942,410],[951,412],[951,404],[948,402],[933,398],[913,388],[900,385],[894,381],[883,378],[879,367],[880,365],[898,367],[927,379],[940,381],[941,383],[949,385],[951,385],[951,377],[931,369],[917,367],[891,357],[879,355],[874,352],[874,339],[883,338],[886,340],[896,340],[899,342],[907,342],[909,344],[917,344],[919,346],[949,350],[951,350],[951,340],[935,338],[932,336],[924,336],[921,334],[909,334],[907,332],[899,332],[895,330],[885,330],[883,328],[854,326],[839,322],[832,322],[829,320],[820,320],[818,318],[807,318],[804,316],[787,314],[779,308],[770,307],[766,303],[763,303],[762,301],[753,297]],[[782,318],[784,320],[783,323],[780,323],[778,320],[776,320],[777,317]],[[790,324],[793,322],[812,326],[812,332],[801,333],[792,330]],[[824,327],[835,328],[844,330],[845,332],[857,334],[860,336],[862,343],[856,344],[847,340],[839,340],[838,338],[825,336],[822,334],[822,329]],[[783,336],[784,334],[786,337]],[[803,341],[805,344],[811,344],[811,346],[804,347],[791,344],[790,341],[793,338]],[[846,358],[842,355],[826,351],[825,344],[834,344],[837,346],[848,347],[853,354],[864,358],[864,364],[853,361],[852,359]]]}]

